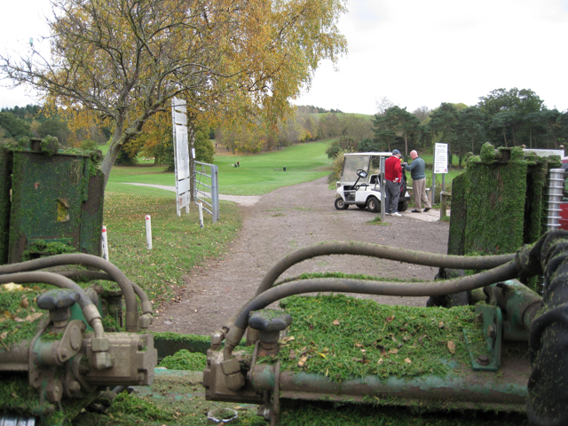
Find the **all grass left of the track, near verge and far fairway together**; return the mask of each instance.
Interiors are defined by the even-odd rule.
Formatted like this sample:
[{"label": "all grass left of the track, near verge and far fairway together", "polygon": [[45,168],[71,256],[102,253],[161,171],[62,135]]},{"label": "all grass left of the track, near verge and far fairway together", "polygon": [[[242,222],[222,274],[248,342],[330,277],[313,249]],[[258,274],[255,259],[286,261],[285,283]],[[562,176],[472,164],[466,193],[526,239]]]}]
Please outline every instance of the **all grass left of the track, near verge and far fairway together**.
[{"label": "all grass left of the track, near verge and far fairway together", "polygon": [[[217,156],[221,193],[261,194],[280,186],[296,185],[329,173],[327,142],[290,146],[280,151],[248,156]],[[241,162],[241,167],[231,164]],[[282,171],[283,167],[287,171]],[[205,215],[200,228],[197,209],[176,215],[175,193],[137,182],[175,185],[166,166],[114,166],[106,185],[104,225],[107,228],[110,261],[130,280],[146,290],[154,306],[173,296],[182,276],[196,265],[206,264],[225,251],[241,228],[241,209],[220,201],[221,218],[213,224]],[[185,209],[184,209],[185,210]],[[152,217],[153,249],[146,249],[145,215]]]}]

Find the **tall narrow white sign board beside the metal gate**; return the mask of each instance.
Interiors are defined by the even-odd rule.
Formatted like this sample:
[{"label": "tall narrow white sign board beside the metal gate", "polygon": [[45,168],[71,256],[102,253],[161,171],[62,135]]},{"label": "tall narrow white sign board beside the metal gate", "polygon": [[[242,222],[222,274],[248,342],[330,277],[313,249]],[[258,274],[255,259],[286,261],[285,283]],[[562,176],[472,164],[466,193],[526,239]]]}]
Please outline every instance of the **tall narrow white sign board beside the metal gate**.
[{"label": "tall narrow white sign board beside the metal gate", "polygon": [[187,115],[185,100],[171,99],[171,124],[174,138],[174,164],[176,169],[176,204],[177,216],[181,216],[181,209],[189,213],[189,149],[187,144]]}]

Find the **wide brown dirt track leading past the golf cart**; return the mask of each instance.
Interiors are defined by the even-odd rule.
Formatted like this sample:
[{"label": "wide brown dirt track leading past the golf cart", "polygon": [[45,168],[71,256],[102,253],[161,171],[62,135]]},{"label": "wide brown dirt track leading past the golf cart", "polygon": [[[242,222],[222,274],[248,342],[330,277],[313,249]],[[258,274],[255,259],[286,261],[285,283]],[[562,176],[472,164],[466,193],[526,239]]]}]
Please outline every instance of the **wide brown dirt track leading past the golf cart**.
[{"label": "wide brown dirt track leading past the golf cart", "polygon": [[[255,205],[241,207],[244,221],[224,258],[185,275],[178,303],[154,319],[155,331],[209,335],[254,295],[264,274],[283,256],[320,241],[366,241],[446,254],[449,224],[425,222],[413,214],[387,217],[390,225],[367,223],[374,213],[334,208],[335,191],[327,178],[280,188]],[[223,211],[221,211],[221,217]],[[415,214],[414,214],[415,216]],[[434,268],[365,256],[325,256],[297,264],[282,277],[302,272],[339,271],[382,277],[431,280]],[[423,305],[425,297],[374,296],[383,304]]]}]

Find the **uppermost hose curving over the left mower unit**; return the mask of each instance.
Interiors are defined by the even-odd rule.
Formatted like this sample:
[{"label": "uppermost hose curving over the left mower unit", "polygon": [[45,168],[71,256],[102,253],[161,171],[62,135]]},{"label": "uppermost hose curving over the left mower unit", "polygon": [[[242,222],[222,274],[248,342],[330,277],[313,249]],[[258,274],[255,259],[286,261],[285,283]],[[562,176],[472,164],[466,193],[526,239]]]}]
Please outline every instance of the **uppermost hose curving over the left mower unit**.
[{"label": "uppermost hose curving over the left mower unit", "polygon": [[41,257],[39,259],[21,262],[20,264],[5,264],[0,266],[0,275],[4,273],[35,271],[52,266],[59,266],[61,264],[93,266],[112,276],[113,280],[121,288],[122,296],[124,296],[124,304],[126,305],[126,331],[138,331],[138,308],[136,305],[136,295],[134,294],[131,281],[126,278],[126,275],[124,275],[118,267],[99,256],[73,253],[68,255]]}]

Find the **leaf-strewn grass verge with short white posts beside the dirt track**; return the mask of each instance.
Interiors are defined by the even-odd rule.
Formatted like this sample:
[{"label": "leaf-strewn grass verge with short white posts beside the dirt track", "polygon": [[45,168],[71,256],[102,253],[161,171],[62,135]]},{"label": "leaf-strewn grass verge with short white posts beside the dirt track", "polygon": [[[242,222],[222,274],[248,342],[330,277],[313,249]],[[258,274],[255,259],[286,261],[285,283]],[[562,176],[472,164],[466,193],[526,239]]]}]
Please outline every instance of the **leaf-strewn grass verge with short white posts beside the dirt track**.
[{"label": "leaf-strewn grass verge with short white posts beside the dirt track", "polygon": [[[120,190],[114,191],[114,190]],[[221,219],[213,224],[205,215],[199,225],[198,210],[177,217],[173,193],[132,185],[108,185],[105,219],[110,261],[130,280],[160,303],[183,285],[182,277],[196,265],[205,264],[225,251],[241,229],[240,209],[220,201]],[[152,250],[146,248],[145,216],[151,216]],[[155,306],[155,305],[154,305]]]}]

